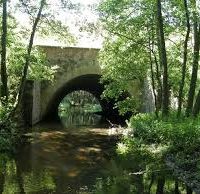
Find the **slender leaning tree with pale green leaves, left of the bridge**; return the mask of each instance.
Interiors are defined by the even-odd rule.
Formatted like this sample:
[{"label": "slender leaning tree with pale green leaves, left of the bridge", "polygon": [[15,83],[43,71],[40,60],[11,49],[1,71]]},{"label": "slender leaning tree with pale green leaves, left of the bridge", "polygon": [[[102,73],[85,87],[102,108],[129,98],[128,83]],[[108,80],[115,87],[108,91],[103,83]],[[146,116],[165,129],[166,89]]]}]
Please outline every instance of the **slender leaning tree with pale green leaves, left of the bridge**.
[{"label": "slender leaning tree with pale green leaves, left of the bridge", "polygon": [[[60,8],[60,4],[64,7]],[[16,110],[18,109],[19,105],[21,105],[24,89],[25,89],[25,83],[27,78],[32,79],[52,79],[54,70],[51,69],[51,67],[45,65],[45,55],[37,48],[33,48],[33,41],[36,34],[36,31],[39,35],[42,36],[58,36],[59,40],[64,40],[65,42],[75,43],[74,36],[70,33],[70,30],[68,26],[64,23],[62,23],[61,20],[59,20],[59,11],[64,11],[64,9],[74,9],[74,7],[71,3],[71,1],[61,1],[57,2],[55,11],[52,9],[51,6],[54,5],[54,2],[48,2],[46,3],[46,0],[20,0],[19,3],[16,5],[14,4],[14,7],[10,7],[11,10],[16,8],[16,12],[19,13],[22,12],[23,14],[27,14],[27,22],[31,22],[33,25],[26,26],[26,30],[20,29],[23,28],[20,25],[23,25],[21,23],[17,23],[17,20],[14,16],[12,16],[12,13],[9,13],[8,15],[11,15],[11,19],[9,19],[9,22],[12,25],[13,29],[20,30],[20,35],[15,34],[13,31],[8,31],[9,39],[6,37],[5,39],[9,41],[9,44],[7,45],[7,49],[9,49],[9,52],[7,54],[7,60],[9,63],[8,66],[8,75],[9,76],[9,88],[10,93],[12,94],[12,100],[13,108],[9,112],[9,114],[6,115],[7,119],[4,119],[6,123],[9,118],[12,118]],[[61,13],[62,14],[62,13]],[[13,25],[14,24],[14,25]],[[17,26],[18,25],[18,26]],[[17,27],[16,27],[17,26]],[[20,27],[19,27],[20,26]],[[29,27],[30,29],[30,38],[27,40],[28,46],[26,49],[26,44],[21,41],[26,40],[26,37],[29,36]],[[50,32],[50,33],[49,33]],[[26,36],[23,37],[22,34],[25,34]],[[3,36],[2,36],[3,37]],[[10,38],[11,37],[11,38]],[[12,40],[11,40],[12,39]],[[3,41],[2,41],[3,42]],[[6,46],[5,46],[6,49]],[[6,54],[5,54],[6,56]],[[31,64],[31,65],[30,65]],[[42,70],[43,69],[43,70]],[[41,72],[41,71],[42,72]],[[45,73],[44,73],[45,72]],[[50,76],[46,76],[47,74]],[[7,78],[7,77],[6,77]],[[7,82],[6,82],[7,83]],[[14,89],[13,89],[14,88]],[[18,88],[18,90],[16,90]],[[5,90],[4,90],[5,91]]]}]

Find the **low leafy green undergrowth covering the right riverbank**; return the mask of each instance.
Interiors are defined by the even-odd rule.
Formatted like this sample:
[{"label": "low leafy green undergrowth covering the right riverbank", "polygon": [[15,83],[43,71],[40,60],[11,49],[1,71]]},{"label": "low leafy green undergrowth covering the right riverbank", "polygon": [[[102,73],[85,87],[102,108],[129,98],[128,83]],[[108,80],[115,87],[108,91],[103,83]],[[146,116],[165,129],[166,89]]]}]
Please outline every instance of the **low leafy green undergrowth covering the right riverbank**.
[{"label": "low leafy green undergrowth covering the right riverbank", "polygon": [[123,143],[130,153],[133,145],[137,146],[154,164],[170,167],[178,179],[200,192],[200,117],[175,115],[172,113],[167,119],[156,118],[154,114],[133,116],[132,136],[125,137]]}]

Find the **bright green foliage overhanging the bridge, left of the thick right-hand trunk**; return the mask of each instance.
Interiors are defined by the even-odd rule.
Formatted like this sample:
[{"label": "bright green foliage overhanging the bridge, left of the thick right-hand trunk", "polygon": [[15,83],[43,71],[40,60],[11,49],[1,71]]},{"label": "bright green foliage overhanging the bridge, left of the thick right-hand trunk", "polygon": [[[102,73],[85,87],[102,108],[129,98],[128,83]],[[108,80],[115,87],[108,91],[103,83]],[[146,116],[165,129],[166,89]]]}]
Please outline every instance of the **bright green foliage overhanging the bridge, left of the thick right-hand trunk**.
[{"label": "bright green foliage overhanging the bridge, left of the thick right-hand trunk", "polygon": [[[151,4],[144,2],[108,0],[100,5],[101,21],[107,30],[99,56],[103,81],[106,83],[103,95],[115,100],[124,92],[130,93],[132,82],[142,81],[147,76],[147,20],[153,13],[147,11]],[[128,110],[135,112],[139,108],[138,102],[135,96],[116,103],[116,106],[124,114]]]}]

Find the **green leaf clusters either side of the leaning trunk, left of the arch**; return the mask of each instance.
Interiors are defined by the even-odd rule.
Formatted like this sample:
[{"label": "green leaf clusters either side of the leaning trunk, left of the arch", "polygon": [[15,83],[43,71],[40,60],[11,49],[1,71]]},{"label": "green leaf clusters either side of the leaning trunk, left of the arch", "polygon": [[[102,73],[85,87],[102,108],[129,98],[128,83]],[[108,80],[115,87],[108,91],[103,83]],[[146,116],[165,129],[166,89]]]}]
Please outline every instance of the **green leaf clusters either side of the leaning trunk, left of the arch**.
[{"label": "green leaf clusters either side of the leaning trunk, left of the arch", "polygon": [[[8,75],[11,94],[16,95],[16,88],[19,85],[19,78],[22,76],[25,63],[26,45],[16,39],[8,47]],[[30,67],[27,79],[52,80],[55,70],[51,69],[46,60],[45,54],[34,47],[30,59]]]}]

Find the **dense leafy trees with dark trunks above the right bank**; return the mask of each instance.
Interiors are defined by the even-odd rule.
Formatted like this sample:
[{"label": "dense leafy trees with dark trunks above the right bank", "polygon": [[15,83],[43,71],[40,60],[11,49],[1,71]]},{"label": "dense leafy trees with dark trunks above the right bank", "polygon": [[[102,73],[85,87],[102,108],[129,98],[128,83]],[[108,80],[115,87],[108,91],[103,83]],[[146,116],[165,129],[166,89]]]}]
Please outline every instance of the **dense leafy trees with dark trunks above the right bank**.
[{"label": "dense leafy trees with dark trunks above the right bank", "polygon": [[198,2],[159,2],[106,0],[100,4],[106,30],[100,61],[103,79],[109,83],[104,94],[117,98],[123,91],[131,93],[133,81],[142,84],[148,77],[157,112],[176,108],[176,102],[180,110],[190,106],[190,115],[195,100],[199,101]]}]

